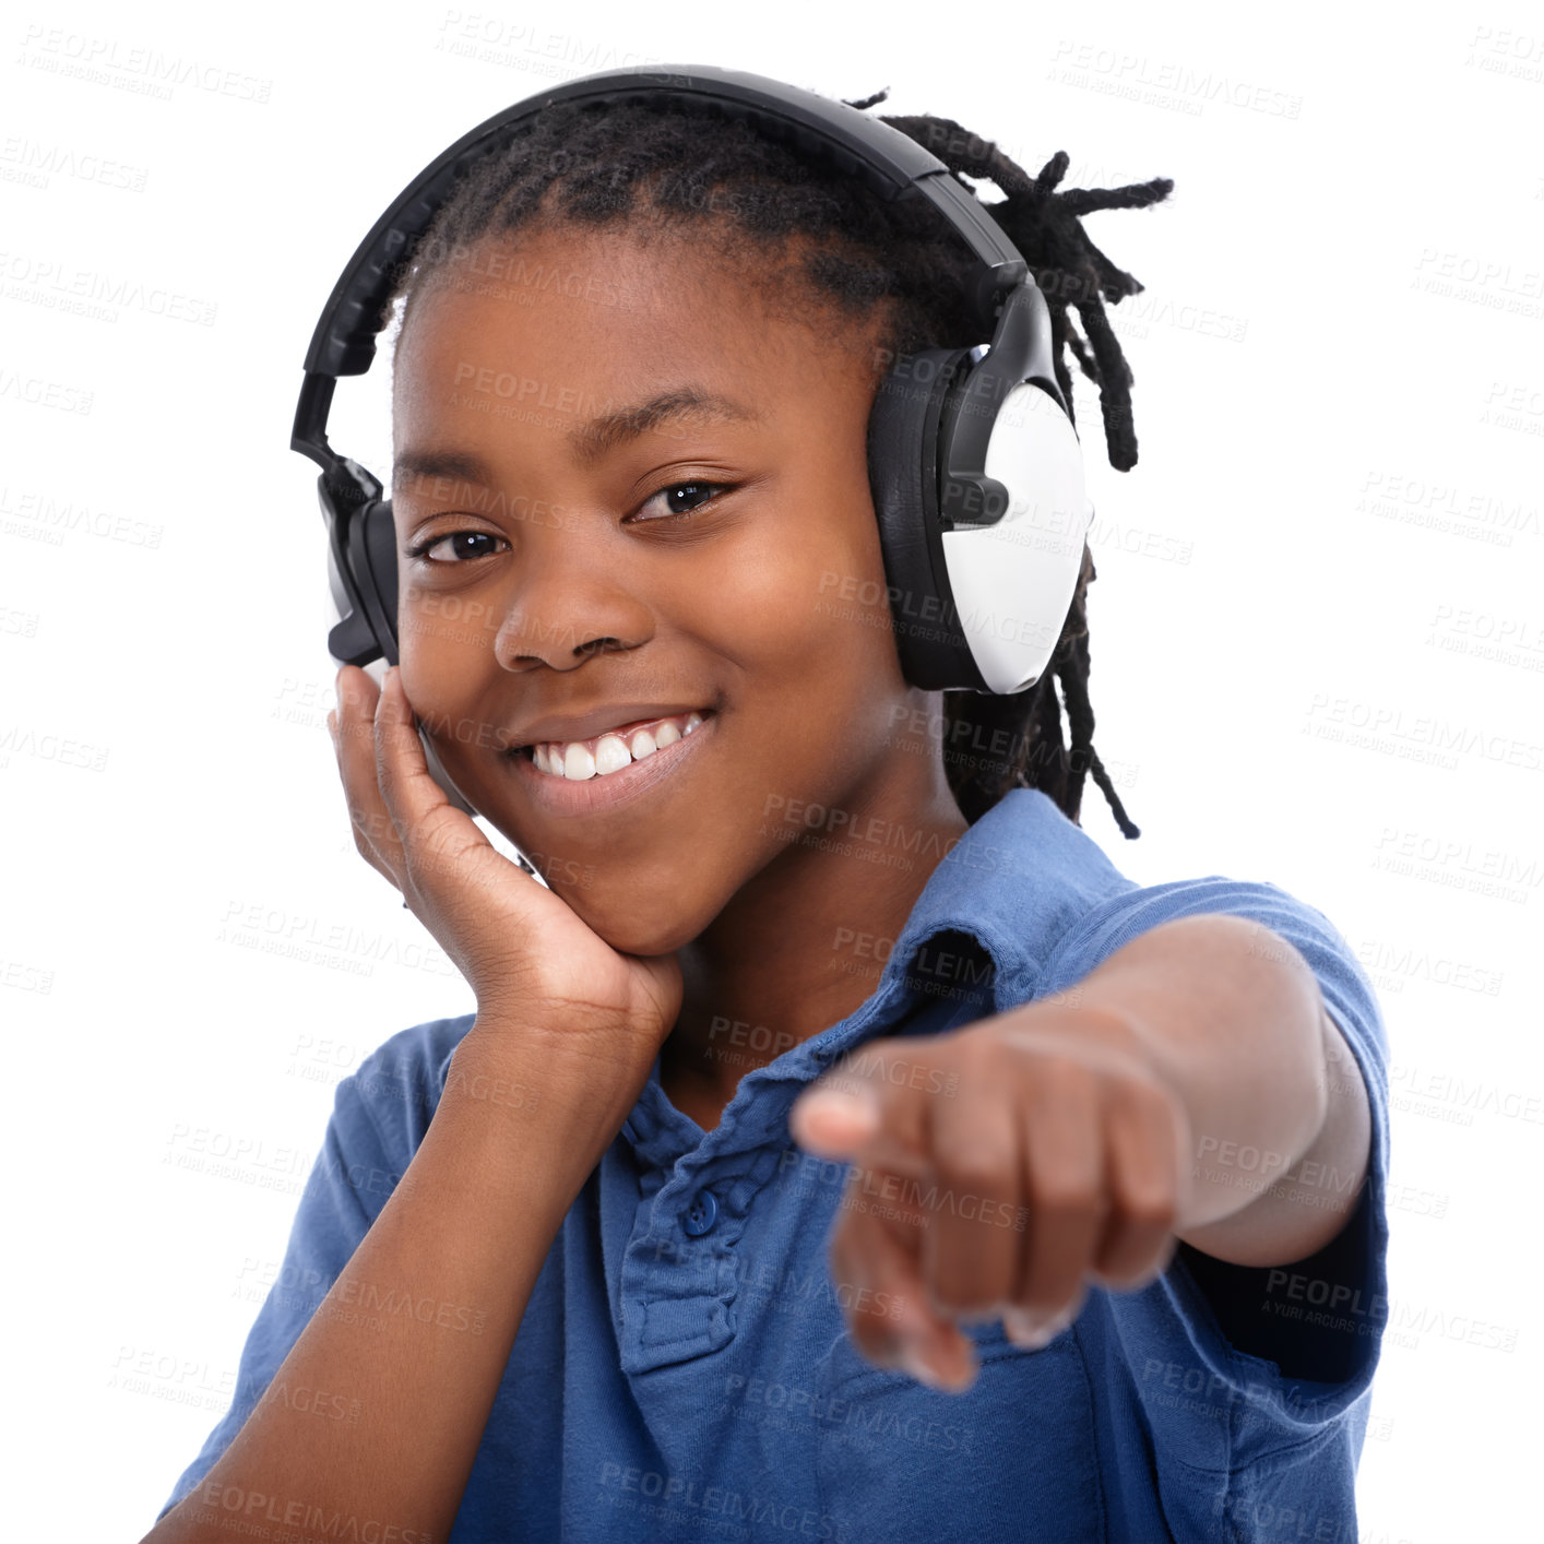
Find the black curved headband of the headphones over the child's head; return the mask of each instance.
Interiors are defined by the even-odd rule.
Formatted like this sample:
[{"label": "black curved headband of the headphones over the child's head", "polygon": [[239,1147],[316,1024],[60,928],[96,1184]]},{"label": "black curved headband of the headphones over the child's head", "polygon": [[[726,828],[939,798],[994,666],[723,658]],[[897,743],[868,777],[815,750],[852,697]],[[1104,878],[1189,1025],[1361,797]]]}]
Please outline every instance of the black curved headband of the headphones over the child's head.
[{"label": "black curved headband of the headphones over the child's head", "polygon": [[988,337],[1001,298],[1021,284],[1028,266],[976,196],[923,145],[845,102],[741,69],[692,65],[679,69],[608,69],[568,80],[496,113],[437,156],[398,195],[360,242],[334,286],[306,350],[306,381],[295,412],[292,449],[334,469],[327,408],[340,375],[363,375],[375,358],[381,309],[418,239],[455,179],[489,148],[513,137],[528,117],[553,102],[669,100],[718,108],[746,119],[769,139],[815,154],[857,176],[883,199],[926,198],[976,256],[967,298]]}]

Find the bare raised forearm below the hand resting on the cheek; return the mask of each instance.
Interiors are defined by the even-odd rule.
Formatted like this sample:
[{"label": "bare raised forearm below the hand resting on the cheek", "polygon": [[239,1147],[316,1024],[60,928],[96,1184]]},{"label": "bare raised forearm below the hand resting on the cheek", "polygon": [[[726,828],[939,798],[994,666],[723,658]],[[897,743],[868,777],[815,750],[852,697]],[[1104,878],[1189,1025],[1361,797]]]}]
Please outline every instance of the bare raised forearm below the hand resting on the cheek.
[{"label": "bare raised forearm below the hand resting on the cheek", "polygon": [[418,1152],[266,1397],[148,1539],[224,1539],[232,1518],[298,1538],[326,1536],[334,1518],[401,1544],[448,1533],[536,1278],[610,1141],[577,1075],[506,1058],[502,1087],[528,1095],[516,1102],[496,1096],[486,1059],[459,1058]]}]

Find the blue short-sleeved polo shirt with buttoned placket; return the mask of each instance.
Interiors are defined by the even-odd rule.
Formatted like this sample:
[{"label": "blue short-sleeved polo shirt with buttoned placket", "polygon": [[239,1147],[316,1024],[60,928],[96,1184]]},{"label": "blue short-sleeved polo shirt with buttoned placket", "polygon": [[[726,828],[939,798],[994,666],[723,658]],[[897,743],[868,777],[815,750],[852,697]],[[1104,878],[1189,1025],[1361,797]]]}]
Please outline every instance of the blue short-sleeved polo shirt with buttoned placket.
[{"label": "blue short-sleeved polo shirt with buttoned placket", "polygon": [[[1373,1152],[1346,1226],[1280,1269],[1181,1244],[1141,1291],[1090,1289],[1039,1351],[1001,1323],[967,1326],[980,1368],[963,1394],[874,1368],[828,1263],[849,1166],[792,1146],[794,1098],[863,1041],[1067,991],[1138,934],[1201,913],[1291,942],[1362,1070]],[[364,1237],[471,1024],[403,1030],[338,1084],[232,1408],[167,1508],[230,1444]],[[548,1252],[451,1544],[1354,1544],[1388,1315],[1387,1062],[1373,990],[1320,911],[1217,875],[1138,886],[1045,794],[1010,792],[937,863],[872,996],[747,1072],[715,1130],[670,1104],[655,1062]],[[1248,1153],[1232,1163],[1246,1170]],[[1325,1194],[1346,1197],[1332,1175]]]}]

